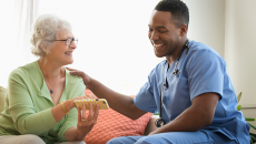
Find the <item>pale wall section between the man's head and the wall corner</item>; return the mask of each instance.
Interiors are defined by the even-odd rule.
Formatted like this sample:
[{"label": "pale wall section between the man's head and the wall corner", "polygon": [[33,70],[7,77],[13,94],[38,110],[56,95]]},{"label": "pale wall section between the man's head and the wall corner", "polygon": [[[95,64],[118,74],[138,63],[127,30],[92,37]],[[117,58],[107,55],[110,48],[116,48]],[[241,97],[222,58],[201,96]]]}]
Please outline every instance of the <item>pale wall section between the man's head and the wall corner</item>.
[{"label": "pale wall section between the man's head and the wall corner", "polygon": [[188,39],[208,44],[224,56],[225,0],[186,0],[190,22]]}]

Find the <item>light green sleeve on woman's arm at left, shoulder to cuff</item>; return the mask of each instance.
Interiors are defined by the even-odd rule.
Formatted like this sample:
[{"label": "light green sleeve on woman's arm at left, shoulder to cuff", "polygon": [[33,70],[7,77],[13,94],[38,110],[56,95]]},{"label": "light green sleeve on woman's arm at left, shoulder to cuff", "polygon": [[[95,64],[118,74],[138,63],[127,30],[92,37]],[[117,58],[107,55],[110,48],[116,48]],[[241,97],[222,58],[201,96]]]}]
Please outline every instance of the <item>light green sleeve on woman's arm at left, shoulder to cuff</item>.
[{"label": "light green sleeve on woman's arm at left, shoulder to cuff", "polygon": [[32,82],[28,82],[28,76],[22,69],[11,72],[8,81],[9,110],[13,126],[20,134],[39,135],[52,128],[57,122],[51,109],[36,113],[35,103],[30,96],[33,90],[28,89]]}]

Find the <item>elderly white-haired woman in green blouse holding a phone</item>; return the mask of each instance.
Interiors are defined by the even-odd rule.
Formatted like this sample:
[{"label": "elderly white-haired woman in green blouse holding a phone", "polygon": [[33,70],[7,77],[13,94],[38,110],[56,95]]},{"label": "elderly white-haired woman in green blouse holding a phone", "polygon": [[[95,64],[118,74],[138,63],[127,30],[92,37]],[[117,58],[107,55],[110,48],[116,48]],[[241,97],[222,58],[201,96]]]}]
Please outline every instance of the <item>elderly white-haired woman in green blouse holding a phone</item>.
[{"label": "elderly white-haired woman in green blouse holding a phone", "polygon": [[[39,60],[9,76],[6,110],[0,116],[0,144],[85,144],[96,124],[99,106],[86,117],[73,100],[86,99],[82,79],[63,65],[73,62],[78,40],[70,24],[56,16],[40,16],[31,38]],[[69,141],[69,142],[67,142]]]}]

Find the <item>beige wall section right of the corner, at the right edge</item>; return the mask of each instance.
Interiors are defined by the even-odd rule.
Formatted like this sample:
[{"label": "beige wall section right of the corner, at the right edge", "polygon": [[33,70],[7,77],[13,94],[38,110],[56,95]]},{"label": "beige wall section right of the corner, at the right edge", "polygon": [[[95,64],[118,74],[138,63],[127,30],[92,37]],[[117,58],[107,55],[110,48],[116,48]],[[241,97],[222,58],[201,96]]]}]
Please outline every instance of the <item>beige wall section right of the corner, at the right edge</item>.
[{"label": "beige wall section right of the corner, at the right edge", "polygon": [[226,0],[225,59],[240,104],[256,106],[256,0]]}]

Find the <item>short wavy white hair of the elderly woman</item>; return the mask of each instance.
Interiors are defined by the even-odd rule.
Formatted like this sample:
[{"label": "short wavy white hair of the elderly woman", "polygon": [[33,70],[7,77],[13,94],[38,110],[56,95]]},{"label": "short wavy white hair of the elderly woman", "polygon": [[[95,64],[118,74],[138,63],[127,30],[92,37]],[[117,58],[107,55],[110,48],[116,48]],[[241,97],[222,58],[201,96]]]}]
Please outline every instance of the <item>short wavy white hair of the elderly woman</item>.
[{"label": "short wavy white hair of the elderly woman", "polygon": [[60,19],[53,14],[39,16],[33,24],[31,52],[37,56],[43,56],[49,52],[49,48],[58,39],[58,32],[62,30],[71,31],[71,25],[68,21]]}]

